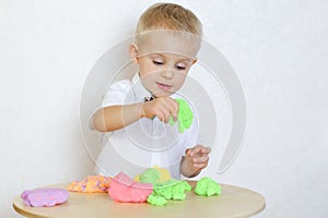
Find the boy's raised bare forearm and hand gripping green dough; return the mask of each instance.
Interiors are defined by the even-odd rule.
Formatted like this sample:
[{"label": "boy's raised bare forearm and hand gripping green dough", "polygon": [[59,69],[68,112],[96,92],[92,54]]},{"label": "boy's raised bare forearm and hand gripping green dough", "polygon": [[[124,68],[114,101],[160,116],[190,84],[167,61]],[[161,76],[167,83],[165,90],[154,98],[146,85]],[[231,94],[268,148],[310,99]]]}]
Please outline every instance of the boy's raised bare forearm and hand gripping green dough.
[{"label": "boy's raised bare forearm and hand gripping green dough", "polygon": [[168,122],[171,114],[176,121],[178,105],[171,97],[159,97],[147,102],[124,106],[108,106],[93,116],[93,126],[99,132],[112,132],[127,126],[141,118],[157,117]]}]

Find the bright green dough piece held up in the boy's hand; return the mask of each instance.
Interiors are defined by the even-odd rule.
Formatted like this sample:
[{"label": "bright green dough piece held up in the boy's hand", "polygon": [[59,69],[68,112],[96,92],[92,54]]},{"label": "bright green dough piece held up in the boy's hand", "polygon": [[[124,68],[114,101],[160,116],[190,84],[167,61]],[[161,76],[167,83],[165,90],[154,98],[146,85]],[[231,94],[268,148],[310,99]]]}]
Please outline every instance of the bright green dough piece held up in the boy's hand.
[{"label": "bright green dough piece held up in the boy's hand", "polygon": [[[183,133],[186,129],[189,129],[192,120],[194,120],[194,114],[192,110],[187,104],[186,100],[181,98],[175,99],[179,106],[179,112],[177,116],[178,124],[179,124],[179,133]],[[169,124],[174,124],[173,118],[171,117],[169,119]]]}]

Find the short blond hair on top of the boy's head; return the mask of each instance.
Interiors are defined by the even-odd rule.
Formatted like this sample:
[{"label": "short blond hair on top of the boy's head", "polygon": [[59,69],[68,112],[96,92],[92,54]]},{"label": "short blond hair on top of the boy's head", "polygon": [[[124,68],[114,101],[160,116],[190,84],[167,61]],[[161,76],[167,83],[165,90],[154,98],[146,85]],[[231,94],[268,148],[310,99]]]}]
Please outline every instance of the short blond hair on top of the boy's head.
[{"label": "short blond hair on top of the boy's head", "polygon": [[171,29],[202,35],[201,22],[188,9],[174,3],[155,3],[140,16],[136,34],[147,31]]}]

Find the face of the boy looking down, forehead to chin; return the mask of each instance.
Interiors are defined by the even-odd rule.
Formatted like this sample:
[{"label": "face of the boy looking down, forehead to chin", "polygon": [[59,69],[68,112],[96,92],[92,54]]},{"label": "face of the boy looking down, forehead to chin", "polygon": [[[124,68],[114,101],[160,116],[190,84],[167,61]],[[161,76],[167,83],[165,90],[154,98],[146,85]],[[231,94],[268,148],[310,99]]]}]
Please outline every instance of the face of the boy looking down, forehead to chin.
[{"label": "face of the boy looking down, forehead to chin", "polygon": [[186,37],[148,37],[134,47],[139,63],[139,75],[143,86],[156,97],[177,92],[196,62],[198,47]]}]

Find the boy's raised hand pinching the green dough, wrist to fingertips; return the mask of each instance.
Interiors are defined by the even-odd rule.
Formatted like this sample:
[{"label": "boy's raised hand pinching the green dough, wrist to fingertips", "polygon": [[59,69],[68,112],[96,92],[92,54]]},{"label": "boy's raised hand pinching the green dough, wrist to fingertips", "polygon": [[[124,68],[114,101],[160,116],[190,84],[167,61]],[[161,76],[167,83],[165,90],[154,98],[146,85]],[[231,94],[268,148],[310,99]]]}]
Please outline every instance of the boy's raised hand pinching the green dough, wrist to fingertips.
[{"label": "boy's raised hand pinching the green dough, wrist to fingertips", "polygon": [[172,116],[173,120],[176,122],[178,110],[179,107],[175,99],[168,96],[163,96],[157,97],[151,101],[143,102],[143,106],[141,108],[141,116],[143,118],[157,117],[165,123],[169,121],[169,118]]}]

